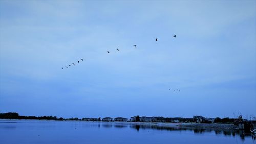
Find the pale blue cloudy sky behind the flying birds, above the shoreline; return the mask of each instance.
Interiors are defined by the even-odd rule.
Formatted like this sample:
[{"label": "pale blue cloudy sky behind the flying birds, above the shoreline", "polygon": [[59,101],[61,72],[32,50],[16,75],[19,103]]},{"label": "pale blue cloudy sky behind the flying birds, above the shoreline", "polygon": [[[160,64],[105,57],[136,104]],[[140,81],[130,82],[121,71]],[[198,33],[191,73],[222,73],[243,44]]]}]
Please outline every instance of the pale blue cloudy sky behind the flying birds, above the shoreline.
[{"label": "pale blue cloudy sky behind the flying birds, above the shoreline", "polygon": [[0,111],[256,116],[255,19],[256,1],[0,1]]}]

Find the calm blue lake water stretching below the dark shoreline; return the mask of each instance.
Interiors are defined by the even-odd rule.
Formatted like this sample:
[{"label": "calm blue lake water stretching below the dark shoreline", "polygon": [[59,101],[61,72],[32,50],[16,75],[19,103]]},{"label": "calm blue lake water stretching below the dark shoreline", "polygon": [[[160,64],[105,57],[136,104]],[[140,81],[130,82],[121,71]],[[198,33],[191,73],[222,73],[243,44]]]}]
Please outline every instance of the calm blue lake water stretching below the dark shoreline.
[{"label": "calm blue lake water stretching below the dark shoreline", "polygon": [[0,143],[256,143],[239,131],[134,123],[1,120]]}]

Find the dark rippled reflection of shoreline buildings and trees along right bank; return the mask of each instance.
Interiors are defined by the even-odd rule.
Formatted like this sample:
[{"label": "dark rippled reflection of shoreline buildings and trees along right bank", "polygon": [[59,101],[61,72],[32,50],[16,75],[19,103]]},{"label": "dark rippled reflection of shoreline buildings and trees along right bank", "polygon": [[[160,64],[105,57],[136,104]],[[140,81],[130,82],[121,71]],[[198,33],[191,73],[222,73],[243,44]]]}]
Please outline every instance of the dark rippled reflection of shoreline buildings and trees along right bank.
[{"label": "dark rippled reflection of shoreline buildings and trees along right bank", "polygon": [[131,124],[130,128],[136,129],[139,131],[140,129],[154,129],[154,130],[166,130],[166,131],[193,131],[195,134],[204,134],[210,133],[212,131],[215,132],[216,135],[225,135],[225,136],[240,136],[242,140],[245,137],[251,137],[253,140],[256,139],[256,136],[252,134],[246,134],[243,130],[233,130],[233,129],[214,129],[214,128],[191,128],[191,127],[166,127],[166,126],[158,126],[158,125],[138,125],[138,124]]}]

